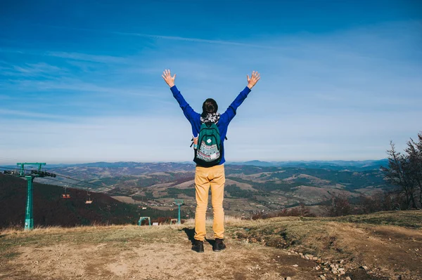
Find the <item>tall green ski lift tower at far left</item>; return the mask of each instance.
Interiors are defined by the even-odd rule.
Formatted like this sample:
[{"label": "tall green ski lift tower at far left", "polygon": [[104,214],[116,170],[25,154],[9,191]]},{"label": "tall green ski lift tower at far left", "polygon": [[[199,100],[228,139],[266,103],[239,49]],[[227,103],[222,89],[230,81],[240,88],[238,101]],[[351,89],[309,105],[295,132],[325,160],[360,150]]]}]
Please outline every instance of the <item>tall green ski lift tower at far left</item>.
[{"label": "tall green ski lift tower at far left", "polygon": [[[27,189],[27,204],[26,204],[26,211],[25,211],[25,230],[34,229],[34,217],[32,215],[32,183],[34,182],[34,178],[37,177],[56,177],[55,174],[49,172],[41,171],[41,166],[45,166],[45,163],[18,163],[18,167],[20,167],[19,177],[25,177],[28,182],[28,189]],[[25,165],[26,166],[37,166],[37,170],[32,170],[30,174],[25,174]]]}]

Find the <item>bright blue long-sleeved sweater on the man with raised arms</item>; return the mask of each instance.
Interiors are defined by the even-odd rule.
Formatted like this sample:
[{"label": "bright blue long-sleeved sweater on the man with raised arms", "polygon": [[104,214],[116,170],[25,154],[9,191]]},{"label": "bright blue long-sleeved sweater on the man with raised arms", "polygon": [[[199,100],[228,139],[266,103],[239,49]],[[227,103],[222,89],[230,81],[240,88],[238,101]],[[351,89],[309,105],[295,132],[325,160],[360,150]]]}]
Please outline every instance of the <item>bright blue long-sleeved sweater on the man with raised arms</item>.
[{"label": "bright blue long-sleeved sweater on the man with raised arms", "polygon": [[[192,126],[192,134],[193,136],[198,136],[199,130],[200,130],[200,114],[193,111],[192,107],[188,105],[188,102],[184,100],[183,96],[181,96],[180,91],[177,89],[176,86],[172,86],[170,88],[172,90],[174,98],[176,98],[177,102],[179,102],[179,105],[181,109],[183,110],[183,114],[186,116],[186,119],[191,123]],[[229,108],[226,109],[226,112],[221,114],[219,121],[217,123],[217,127],[219,129],[219,133],[221,136],[222,141],[222,147],[223,147],[223,154],[222,154],[222,160],[219,164],[224,164],[226,161],[224,159],[224,139],[226,138],[227,133],[227,127],[230,124],[230,121],[236,116],[236,109],[242,104],[243,100],[248,97],[248,94],[250,93],[250,88],[245,87],[241,93],[236,97],[236,99],[231,103]]]}]

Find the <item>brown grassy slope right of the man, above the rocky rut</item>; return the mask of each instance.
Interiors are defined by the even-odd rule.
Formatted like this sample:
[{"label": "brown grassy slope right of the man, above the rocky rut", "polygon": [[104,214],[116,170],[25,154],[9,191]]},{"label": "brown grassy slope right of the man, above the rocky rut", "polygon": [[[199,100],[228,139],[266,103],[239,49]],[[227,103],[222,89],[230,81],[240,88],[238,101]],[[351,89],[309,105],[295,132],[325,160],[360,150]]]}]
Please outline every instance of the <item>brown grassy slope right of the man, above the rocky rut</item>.
[{"label": "brown grassy slope right of the man, above the rocky rut", "polygon": [[[373,213],[339,218],[280,217],[233,222],[238,240],[344,260],[348,269],[366,265],[374,273],[418,279],[422,274],[422,211]],[[411,240],[411,242],[409,242]]]}]

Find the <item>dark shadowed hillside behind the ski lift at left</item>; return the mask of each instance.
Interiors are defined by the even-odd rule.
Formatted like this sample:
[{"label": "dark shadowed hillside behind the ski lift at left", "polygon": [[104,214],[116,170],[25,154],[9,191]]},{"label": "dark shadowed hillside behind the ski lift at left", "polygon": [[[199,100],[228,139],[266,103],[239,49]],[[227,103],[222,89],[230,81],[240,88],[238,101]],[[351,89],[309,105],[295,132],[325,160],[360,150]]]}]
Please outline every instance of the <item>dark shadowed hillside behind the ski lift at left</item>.
[{"label": "dark shadowed hillside behind the ski lift at left", "polygon": [[[62,199],[63,192],[63,187],[34,182],[34,226],[135,224],[141,215],[151,218],[177,215],[177,211],[142,210],[107,194],[92,192],[88,196],[82,189],[68,189],[71,199]],[[23,227],[26,197],[26,180],[0,174],[0,227]],[[88,198],[92,204],[85,204]]]}]

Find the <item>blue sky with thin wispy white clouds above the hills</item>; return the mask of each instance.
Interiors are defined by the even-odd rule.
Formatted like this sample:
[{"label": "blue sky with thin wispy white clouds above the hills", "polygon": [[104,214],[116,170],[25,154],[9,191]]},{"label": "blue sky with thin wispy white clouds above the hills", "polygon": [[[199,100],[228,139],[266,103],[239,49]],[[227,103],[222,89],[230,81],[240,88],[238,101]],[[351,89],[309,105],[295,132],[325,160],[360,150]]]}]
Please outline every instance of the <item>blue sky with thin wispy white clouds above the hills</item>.
[{"label": "blue sky with thin wispy white clouds above the hills", "polygon": [[[422,131],[421,1],[1,1],[0,163],[190,161],[191,106],[227,161],[381,159]],[[165,133],[167,131],[167,133]]]}]

